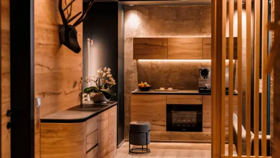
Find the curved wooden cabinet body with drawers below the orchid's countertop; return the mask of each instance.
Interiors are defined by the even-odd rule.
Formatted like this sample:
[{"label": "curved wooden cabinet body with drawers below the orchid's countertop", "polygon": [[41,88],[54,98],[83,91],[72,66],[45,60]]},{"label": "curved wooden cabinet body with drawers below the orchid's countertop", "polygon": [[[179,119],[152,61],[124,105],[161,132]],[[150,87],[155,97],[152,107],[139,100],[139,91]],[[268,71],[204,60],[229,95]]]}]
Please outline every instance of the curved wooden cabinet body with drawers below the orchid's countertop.
[{"label": "curved wooden cabinet body with drawers below the orchid's countertop", "polygon": [[114,158],[117,106],[81,120],[78,123],[65,120],[41,123],[41,158]]}]

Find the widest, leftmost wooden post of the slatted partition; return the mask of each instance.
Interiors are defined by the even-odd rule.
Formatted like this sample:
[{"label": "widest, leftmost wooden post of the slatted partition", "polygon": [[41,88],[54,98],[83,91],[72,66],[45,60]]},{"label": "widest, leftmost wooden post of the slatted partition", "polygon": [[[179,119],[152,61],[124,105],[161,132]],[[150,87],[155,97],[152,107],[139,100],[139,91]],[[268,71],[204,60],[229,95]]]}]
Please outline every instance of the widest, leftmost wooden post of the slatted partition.
[{"label": "widest, leftmost wooden post of the slatted partition", "polygon": [[222,4],[223,0],[212,0],[212,157],[221,158],[221,80],[222,80]]}]

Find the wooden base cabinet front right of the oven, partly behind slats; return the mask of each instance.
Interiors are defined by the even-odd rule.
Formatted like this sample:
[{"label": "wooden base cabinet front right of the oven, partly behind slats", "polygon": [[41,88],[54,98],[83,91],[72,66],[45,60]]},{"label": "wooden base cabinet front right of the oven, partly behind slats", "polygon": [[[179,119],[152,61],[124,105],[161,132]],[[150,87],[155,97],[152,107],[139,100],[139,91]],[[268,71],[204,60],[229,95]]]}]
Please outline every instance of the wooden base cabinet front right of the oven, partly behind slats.
[{"label": "wooden base cabinet front right of the oven, partly behind slats", "polygon": [[[225,96],[225,132],[228,132],[228,95]],[[233,113],[238,111],[237,95],[233,96]],[[203,95],[202,131],[211,132],[211,95]]]}]

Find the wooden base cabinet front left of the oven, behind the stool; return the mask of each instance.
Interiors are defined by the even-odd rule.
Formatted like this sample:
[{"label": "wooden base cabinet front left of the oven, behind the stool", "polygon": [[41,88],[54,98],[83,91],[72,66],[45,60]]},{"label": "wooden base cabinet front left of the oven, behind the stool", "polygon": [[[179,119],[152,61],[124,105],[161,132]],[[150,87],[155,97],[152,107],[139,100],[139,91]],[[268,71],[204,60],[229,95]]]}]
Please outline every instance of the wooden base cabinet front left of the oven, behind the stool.
[{"label": "wooden base cabinet front left of the oven, behind the stool", "polygon": [[134,121],[149,122],[154,131],[166,131],[166,95],[131,95]]}]

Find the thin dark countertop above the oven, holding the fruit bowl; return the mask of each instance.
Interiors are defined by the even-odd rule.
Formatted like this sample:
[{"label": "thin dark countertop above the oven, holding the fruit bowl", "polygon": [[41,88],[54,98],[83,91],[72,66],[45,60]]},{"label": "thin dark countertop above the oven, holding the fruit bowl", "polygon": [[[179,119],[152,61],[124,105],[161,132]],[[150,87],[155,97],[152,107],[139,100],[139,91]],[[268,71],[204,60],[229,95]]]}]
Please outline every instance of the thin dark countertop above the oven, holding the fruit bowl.
[{"label": "thin dark countertop above the oven, holding the fruit bowl", "polygon": [[[199,93],[198,90],[178,90],[178,91],[135,90],[132,91],[131,94],[132,95],[211,95],[211,93]],[[233,95],[237,95],[237,91],[234,91]]]}]

